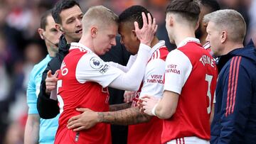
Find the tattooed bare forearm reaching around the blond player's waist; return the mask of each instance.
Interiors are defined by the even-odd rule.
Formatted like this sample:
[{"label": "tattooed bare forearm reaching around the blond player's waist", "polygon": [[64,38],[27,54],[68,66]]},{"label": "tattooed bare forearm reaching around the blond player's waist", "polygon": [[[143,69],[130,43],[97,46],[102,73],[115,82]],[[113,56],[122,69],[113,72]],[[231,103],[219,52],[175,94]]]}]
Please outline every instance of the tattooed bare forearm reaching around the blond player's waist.
[{"label": "tattooed bare forearm reaching around the blond player's waist", "polygon": [[116,125],[130,125],[150,121],[151,116],[139,112],[139,107],[121,111],[98,112],[100,122]]}]

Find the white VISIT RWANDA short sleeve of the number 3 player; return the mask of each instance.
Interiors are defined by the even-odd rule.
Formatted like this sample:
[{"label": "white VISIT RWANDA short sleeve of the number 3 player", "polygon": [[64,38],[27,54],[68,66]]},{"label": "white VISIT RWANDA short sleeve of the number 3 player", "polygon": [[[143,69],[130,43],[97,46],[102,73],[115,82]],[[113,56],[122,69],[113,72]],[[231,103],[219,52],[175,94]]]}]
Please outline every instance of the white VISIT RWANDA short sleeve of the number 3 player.
[{"label": "white VISIT RWANDA short sleeve of the number 3 player", "polygon": [[182,87],[192,71],[191,61],[180,50],[172,50],[166,57],[165,69],[164,90],[181,94]]}]

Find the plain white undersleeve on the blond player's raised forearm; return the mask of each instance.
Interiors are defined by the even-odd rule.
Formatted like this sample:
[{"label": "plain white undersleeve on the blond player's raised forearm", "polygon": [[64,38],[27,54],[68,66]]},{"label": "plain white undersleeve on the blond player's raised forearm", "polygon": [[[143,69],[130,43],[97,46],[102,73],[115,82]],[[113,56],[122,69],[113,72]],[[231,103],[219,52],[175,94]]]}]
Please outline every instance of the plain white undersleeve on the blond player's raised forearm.
[{"label": "plain white undersleeve on the blond player's raised forearm", "polygon": [[137,58],[127,73],[119,74],[117,79],[109,85],[115,89],[137,91],[144,76],[146,63],[149,60],[151,48],[148,45],[140,44]]}]

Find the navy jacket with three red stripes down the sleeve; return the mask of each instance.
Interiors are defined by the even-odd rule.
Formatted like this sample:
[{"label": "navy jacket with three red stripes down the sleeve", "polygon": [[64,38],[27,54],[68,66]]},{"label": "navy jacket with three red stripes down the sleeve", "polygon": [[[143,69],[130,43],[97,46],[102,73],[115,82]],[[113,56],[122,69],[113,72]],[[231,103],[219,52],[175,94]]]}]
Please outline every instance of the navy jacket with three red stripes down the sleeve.
[{"label": "navy jacket with three red stripes down the sleeve", "polygon": [[210,143],[256,143],[256,49],[251,42],[218,61]]}]

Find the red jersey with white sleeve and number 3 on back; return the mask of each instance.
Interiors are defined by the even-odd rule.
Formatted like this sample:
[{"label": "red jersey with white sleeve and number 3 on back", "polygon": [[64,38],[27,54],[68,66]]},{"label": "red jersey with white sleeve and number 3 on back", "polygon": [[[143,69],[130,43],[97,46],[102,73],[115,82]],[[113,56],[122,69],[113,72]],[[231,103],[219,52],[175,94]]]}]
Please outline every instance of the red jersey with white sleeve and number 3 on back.
[{"label": "red jersey with white sleeve and number 3 on back", "polygon": [[195,38],[187,38],[166,58],[164,90],[180,94],[176,112],[164,120],[162,143],[196,136],[210,140],[210,111],[217,67]]}]

